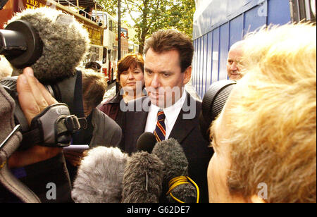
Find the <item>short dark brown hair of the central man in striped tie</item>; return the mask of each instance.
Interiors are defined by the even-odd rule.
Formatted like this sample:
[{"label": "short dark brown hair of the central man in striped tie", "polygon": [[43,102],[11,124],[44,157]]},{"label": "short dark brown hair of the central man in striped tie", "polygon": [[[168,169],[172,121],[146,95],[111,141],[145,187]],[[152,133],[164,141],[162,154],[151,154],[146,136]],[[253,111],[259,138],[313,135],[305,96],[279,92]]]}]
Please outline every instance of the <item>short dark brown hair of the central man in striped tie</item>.
[{"label": "short dark brown hair of the central man in striped tie", "polygon": [[145,42],[144,55],[147,54],[149,49],[159,54],[166,51],[178,51],[182,73],[192,65],[192,57],[194,55],[192,39],[178,30],[159,30],[154,32]]}]

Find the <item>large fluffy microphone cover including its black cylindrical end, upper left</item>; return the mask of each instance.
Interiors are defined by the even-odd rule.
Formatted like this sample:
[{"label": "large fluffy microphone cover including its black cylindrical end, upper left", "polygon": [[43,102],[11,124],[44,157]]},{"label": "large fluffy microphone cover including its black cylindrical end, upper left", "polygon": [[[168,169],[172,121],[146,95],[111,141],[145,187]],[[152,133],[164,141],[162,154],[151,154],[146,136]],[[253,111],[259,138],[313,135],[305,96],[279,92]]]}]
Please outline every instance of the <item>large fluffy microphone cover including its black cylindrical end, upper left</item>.
[{"label": "large fluffy microphone cover including its black cylindrical end, upper left", "polygon": [[16,13],[0,30],[0,54],[18,73],[32,67],[44,83],[75,75],[88,49],[87,30],[73,16],[52,8]]}]

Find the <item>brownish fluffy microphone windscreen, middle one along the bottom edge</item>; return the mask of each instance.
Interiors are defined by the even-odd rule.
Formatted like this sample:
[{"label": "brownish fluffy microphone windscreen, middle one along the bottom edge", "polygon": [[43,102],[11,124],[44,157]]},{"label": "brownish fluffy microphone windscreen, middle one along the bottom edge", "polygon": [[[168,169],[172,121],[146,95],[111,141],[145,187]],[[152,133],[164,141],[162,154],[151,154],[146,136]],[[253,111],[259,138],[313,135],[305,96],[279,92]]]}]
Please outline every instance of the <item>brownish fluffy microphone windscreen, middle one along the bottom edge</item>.
[{"label": "brownish fluffy microphone windscreen, middle one along the bottom edge", "polygon": [[163,163],[140,151],[130,156],[123,178],[123,203],[158,203],[162,191]]}]

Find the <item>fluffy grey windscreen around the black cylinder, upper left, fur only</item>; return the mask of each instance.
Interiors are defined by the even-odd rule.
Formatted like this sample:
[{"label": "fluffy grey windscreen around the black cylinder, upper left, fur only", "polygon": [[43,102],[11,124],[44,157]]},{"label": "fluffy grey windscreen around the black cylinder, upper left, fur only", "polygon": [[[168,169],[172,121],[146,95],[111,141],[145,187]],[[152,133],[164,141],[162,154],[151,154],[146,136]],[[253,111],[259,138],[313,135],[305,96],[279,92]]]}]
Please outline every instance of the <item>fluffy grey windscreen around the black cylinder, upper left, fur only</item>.
[{"label": "fluffy grey windscreen around the black cylinder, upper left, fur only", "polygon": [[[42,56],[30,66],[40,82],[55,82],[75,74],[89,49],[89,35],[82,24],[73,16],[47,7],[16,13],[8,23],[15,20],[30,23],[42,39]],[[22,69],[15,70],[22,73]]]}]

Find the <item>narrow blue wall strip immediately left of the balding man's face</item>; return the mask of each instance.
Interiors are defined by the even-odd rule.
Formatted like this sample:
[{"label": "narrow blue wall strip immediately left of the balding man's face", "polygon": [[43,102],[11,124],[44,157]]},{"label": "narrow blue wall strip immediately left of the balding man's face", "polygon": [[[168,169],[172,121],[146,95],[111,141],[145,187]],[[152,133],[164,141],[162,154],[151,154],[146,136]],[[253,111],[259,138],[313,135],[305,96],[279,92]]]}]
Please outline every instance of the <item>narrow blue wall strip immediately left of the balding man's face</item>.
[{"label": "narrow blue wall strip immediately left of the balding man's face", "polygon": [[219,77],[218,80],[227,79],[227,57],[229,50],[229,23],[220,27]]}]

